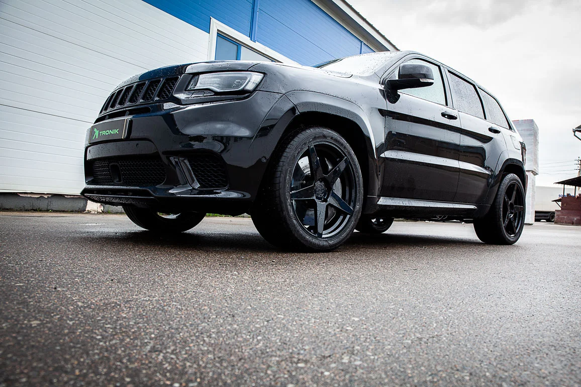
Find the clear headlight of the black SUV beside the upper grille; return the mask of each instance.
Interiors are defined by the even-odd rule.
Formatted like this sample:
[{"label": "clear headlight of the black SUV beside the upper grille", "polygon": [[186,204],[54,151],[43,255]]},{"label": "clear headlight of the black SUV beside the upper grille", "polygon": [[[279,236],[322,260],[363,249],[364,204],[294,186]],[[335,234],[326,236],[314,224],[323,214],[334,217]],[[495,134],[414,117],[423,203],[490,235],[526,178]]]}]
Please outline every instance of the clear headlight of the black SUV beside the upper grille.
[{"label": "clear headlight of the black SUV beside the upper grille", "polygon": [[251,92],[263,76],[250,71],[200,74],[193,77],[187,90],[211,90],[217,93]]}]

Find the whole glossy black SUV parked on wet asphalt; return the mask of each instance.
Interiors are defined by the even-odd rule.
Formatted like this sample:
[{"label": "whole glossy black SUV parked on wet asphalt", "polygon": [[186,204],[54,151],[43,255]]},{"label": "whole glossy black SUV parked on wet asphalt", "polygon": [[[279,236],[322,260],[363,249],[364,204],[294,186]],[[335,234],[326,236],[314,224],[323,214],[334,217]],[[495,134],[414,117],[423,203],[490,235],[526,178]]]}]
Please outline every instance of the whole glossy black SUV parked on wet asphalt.
[{"label": "whole glossy black SUV parked on wet asphalt", "polygon": [[329,251],[393,218],[469,220],[480,240],[512,244],[524,162],[496,98],[416,52],[214,61],[116,88],[87,133],[82,194],[159,232],[246,212],[283,248]]}]

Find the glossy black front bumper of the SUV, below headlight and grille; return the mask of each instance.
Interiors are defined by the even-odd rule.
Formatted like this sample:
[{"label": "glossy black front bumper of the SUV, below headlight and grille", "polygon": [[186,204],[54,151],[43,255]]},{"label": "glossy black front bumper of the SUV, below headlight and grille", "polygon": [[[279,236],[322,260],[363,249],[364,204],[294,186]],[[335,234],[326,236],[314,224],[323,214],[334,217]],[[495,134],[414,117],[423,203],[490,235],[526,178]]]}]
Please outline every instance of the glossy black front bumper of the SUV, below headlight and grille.
[{"label": "glossy black front bumper of the SUV, below headlight and grille", "polygon": [[295,114],[285,96],[257,91],[118,118],[131,120],[125,139],[85,148],[81,194],[110,205],[243,214]]}]

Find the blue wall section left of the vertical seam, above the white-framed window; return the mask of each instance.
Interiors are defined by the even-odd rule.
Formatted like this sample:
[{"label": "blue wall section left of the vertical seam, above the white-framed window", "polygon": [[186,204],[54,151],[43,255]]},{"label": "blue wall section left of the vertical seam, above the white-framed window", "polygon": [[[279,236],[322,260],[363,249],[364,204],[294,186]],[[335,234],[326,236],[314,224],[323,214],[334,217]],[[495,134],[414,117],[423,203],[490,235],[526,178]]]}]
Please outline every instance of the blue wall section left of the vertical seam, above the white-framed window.
[{"label": "blue wall section left of the vertical seam, above the white-framed window", "polygon": [[144,0],[156,8],[210,32],[210,17],[250,35],[252,0]]}]

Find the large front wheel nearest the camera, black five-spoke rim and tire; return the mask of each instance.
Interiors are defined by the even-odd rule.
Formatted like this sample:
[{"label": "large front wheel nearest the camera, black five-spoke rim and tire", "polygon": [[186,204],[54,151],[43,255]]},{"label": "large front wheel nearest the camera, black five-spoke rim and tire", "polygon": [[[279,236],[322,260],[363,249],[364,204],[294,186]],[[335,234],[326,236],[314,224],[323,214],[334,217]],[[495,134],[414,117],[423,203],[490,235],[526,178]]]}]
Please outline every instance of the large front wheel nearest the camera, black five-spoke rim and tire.
[{"label": "large front wheel nearest the camera, black five-spoke rim and tire", "polygon": [[332,251],[353,233],[362,202],[353,150],[338,133],[313,127],[282,140],[251,216],[276,247]]}]

